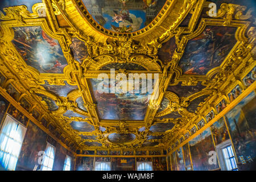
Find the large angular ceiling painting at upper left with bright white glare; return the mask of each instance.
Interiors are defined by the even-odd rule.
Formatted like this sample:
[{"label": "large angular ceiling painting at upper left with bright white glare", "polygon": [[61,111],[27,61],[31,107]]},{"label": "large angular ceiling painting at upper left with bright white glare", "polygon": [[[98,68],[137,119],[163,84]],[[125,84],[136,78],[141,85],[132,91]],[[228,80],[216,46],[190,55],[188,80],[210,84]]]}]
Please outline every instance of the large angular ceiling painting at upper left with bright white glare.
[{"label": "large angular ceiling painting at upper left with bright white glare", "polygon": [[40,73],[63,73],[68,65],[59,42],[41,27],[15,27],[13,44],[26,64]]}]

